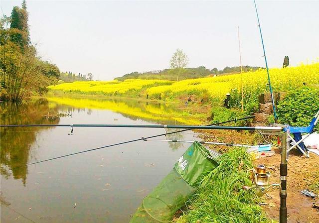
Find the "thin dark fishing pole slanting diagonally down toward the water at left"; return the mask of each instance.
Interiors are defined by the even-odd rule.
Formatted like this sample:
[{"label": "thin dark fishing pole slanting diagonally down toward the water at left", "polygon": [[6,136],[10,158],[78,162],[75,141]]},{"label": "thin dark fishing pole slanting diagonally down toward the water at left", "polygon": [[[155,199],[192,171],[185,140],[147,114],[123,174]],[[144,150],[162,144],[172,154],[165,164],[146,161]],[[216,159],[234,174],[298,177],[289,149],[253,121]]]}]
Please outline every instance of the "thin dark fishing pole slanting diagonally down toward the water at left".
[{"label": "thin dark fishing pole slanting diagonally down toward the water at left", "polygon": [[[242,117],[242,118],[235,118],[235,119],[233,119],[233,120],[228,120],[228,121],[223,121],[223,122],[218,122],[218,123],[209,124],[209,125],[207,125],[207,126],[218,125],[218,124],[225,124],[225,123],[229,123],[229,122],[233,122],[233,121],[236,122],[236,121],[239,121],[239,120],[245,120],[245,119],[253,118],[254,116],[255,116],[255,115],[250,115],[250,116],[246,116],[246,117]],[[76,153],[70,153],[70,154],[66,154],[66,155],[62,155],[62,156],[57,156],[57,157],[50,158],[50,159],[45,159],[45,160],[41,160],[41,161],[29,163],[29,164],[27,164],[27,165],[33,165],[33,164],[36,164],[36,163],[42,163],[42,162],[46,162],[46,161],[50,161],[50,160],[55,160],[55,159],[59,159],[59,158],[67,157],[67,156],[72,156],[72,155],[76,155],[76,154],[80,154],[80,153],[90,152],[90,151],[94,151],[94,150],[98,150],[98,149],[103,149],[103,148],[108,148],[108,147],[117,146],[117,145],[123,145],[123,144],[130,143],[130,142],[141,141],[141,140],[145,140],[145,139],[149,139],[149,138],[155,138],[155,137],[159,137],[159,136],[164,136],[164,135],[169,135],[169,134],[184,132],[184,131],[188,131],[188,130],[191,130],[191,129],[190,129],[190,128],[188,128],[188,129],[182,129],[182,130],[178,130],[178,131],[162,133],[162,134],[153,135],[153,136],[149,136],[149,137],[144,137],[144,138],[138,138],[138,139],[133,139],[133,140],[124,141],[124,142],[119,142],[119,143],[115,143],[115,144],[111,144],[111,145],[101,146],[101,147],[97,147],[97,148],[93,148],[93,149],[88,149],[88,150],[84,150],[84,151],[80,151],[80,152],[76,152]]]}]

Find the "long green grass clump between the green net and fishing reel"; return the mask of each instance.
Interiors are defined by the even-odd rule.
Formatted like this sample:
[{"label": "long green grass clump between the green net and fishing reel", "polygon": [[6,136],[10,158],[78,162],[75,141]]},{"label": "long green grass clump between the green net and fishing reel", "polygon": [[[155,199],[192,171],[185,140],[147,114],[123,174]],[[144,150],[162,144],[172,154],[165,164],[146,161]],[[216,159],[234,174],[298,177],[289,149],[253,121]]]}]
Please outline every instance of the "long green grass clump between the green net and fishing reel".
[{"label": "long green grass clump between the green net and fishing reel", "polygon": [[189,202],[191,209],[178,223],[268,223],[271,222],[256,203],[253,191],[241,190],[251,185],[248,170],[251,157],[245,148],[223,154],[217,166],[202,181],[199,191]]}]

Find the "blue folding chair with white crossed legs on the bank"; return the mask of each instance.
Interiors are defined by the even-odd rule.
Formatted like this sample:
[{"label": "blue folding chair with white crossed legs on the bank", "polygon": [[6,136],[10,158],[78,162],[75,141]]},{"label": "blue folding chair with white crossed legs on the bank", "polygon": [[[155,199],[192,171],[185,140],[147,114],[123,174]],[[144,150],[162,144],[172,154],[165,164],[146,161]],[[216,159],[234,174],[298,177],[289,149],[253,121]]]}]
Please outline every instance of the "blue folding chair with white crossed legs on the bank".
[{"label": "blue folding chair with white crossed legs on the bank", "polygon": [[[289,126],[289,133],[293,134],[294,137],[289,135],[290,139],[294,143],[293,146],[289,148],[289,151],[292,150],[293,148],[297,147],[307,158],[309,158],[309,151],[307,147],[304,144],[304,140],[311,134],[313,133],[313,130],[318,123],[319,120],[319,110],[316,113],[315,117],[311,120],[309,125],[307,127],[292,127]],[[284,128],[284,131],[287,131],[287,128]],[[304,138],[302,137],[302,133],[308,133]]]}]

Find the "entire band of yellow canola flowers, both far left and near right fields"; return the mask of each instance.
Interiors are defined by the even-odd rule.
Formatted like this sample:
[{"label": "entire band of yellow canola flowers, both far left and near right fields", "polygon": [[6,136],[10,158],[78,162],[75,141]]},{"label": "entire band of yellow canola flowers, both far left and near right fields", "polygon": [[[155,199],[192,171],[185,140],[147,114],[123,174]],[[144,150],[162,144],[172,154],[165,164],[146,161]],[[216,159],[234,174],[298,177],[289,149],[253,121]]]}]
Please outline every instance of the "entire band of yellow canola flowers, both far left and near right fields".
[{"label": "entire band of yellow canola flowers, both far left and near right fields", "polygon": [[[319,63],[297,67],[270,69],[271,84],[277,92],[287,92],[303,85],[319,84]],[[255,72],[189,79],[178,82],[165,80],[125,80],[88,81],[64,83],[49,86],[50,90],[73,92],[88,95],[127,96],[137,95],[149,99],[174,99],[179,96],[196,96],[208,98],[220,104],[226,93],[230,93],[235,104],[241,104],[241,86],[243,86],[243,103],[248,104],[258,95],[269,91],[267,72],[260,69]]]}]

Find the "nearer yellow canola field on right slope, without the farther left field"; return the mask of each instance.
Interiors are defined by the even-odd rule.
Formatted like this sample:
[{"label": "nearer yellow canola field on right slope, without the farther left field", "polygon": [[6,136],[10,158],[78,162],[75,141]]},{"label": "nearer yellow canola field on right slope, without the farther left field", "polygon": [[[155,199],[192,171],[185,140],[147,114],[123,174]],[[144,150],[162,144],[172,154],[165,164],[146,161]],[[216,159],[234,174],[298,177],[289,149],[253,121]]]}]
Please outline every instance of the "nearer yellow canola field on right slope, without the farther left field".
[{"label": "nearer yellow canola field on right slope, without the farther left field", "polygon": [[[298,67],[270,69],[271,84],[274,91],[290,91],[303,85],[319,84],[319,63]],[[165,99],[177,95],[208,95],[223,99],[227,93],[232,96],[240,93],[243,86],[244,98],[257,97],[269,91],[266,70],[255,72],[190,79],[175,82],[169,86],[152,87],[147,94],[152,98]]]}]

